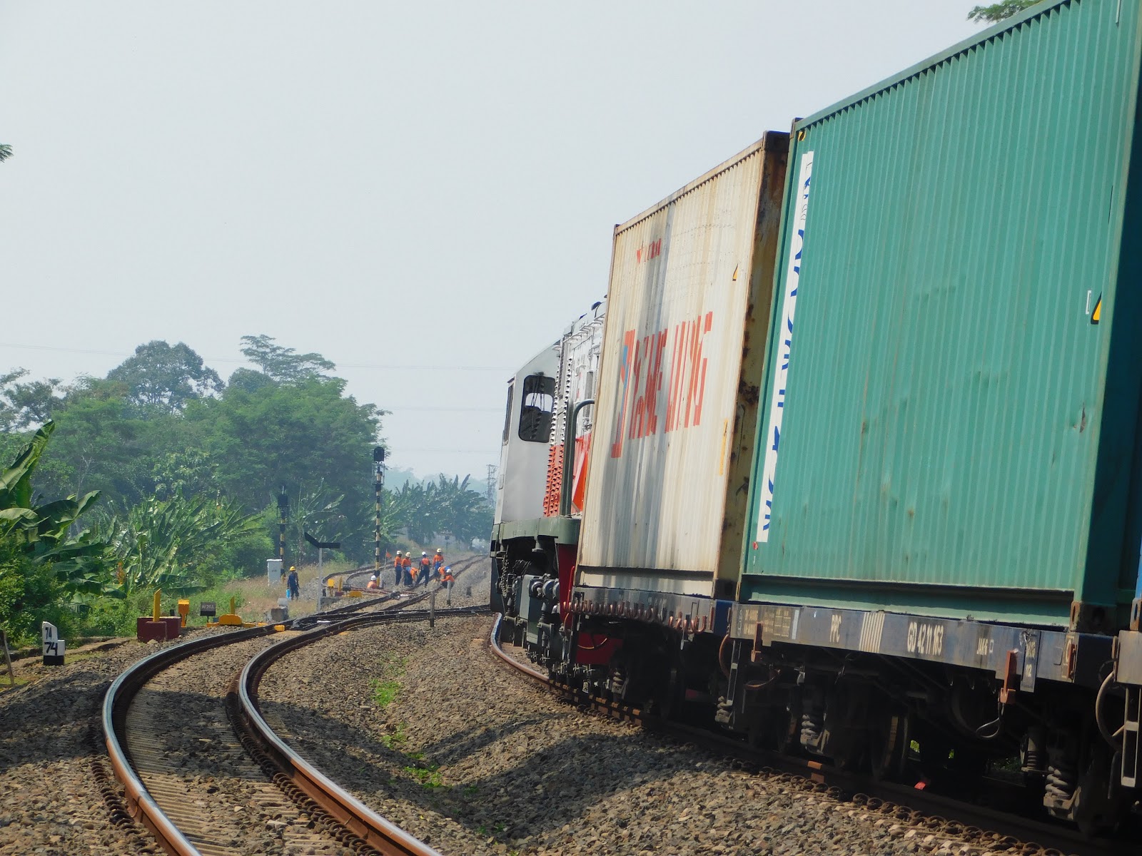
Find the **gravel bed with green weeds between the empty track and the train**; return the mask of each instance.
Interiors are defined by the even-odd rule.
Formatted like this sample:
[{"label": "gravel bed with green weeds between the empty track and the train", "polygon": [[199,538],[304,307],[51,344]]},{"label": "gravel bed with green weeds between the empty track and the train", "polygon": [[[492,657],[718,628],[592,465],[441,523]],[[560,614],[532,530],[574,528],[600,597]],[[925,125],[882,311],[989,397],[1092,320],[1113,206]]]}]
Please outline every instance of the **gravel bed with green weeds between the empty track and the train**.
[{"label": "gravel bed with green weeds between the empty track and the train", "polygon": [[[379,814],[460,854],[915,854],[942,839],[578,712],[484,649],[490,617],[290,654],[271,725]],[[381,709],[373,695],[392,693]]]}]

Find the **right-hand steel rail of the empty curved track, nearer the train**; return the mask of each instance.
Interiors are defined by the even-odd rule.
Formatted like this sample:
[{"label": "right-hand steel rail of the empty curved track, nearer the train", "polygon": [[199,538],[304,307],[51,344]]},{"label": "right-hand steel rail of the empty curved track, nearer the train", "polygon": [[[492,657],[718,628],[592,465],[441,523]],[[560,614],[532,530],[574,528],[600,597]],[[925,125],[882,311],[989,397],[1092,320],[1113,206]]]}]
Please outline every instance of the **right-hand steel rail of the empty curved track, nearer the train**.
[{"label": "right-hand steel rail of the empty curved track, nearer the train", "polygon": [[[486,607],[456,607],[436,609],[437,617],[474,615],[484,612]],[[311,630],[303,636],[287,639],[271,648],[259,652],[242,669],[238,681],[238,696],[241,705],[241,717],[251,736],[262,750],[271,757],[274,764],[300,789],[306,797],[316,802],[343,826],[376,848],[385,856],[440,856],[439,851],[413,838],[400,826],[385,819],[359,799],[321,773],[314,765],[305,760],[279,737],[262,716],[258,708],[258,685],[262,676],[279,659],[291,651],[312,645],[331,633],[385,624],[410,619],[426,617],[427,611],[383,612],[371,615],[356,615]]]}]

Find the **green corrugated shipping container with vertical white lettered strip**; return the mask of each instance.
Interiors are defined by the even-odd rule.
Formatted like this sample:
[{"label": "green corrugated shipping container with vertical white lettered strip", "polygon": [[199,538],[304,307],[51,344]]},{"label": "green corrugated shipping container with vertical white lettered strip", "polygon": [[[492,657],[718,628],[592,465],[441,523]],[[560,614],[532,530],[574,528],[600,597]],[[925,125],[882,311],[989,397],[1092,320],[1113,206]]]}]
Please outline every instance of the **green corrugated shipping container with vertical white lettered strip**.
[{"label": "green corrugated shipping container with vertical white lettered strip", "polygon": [[741,599],[1117,621],[1140,45],[1136,0],[1045,2],[796,124]]}]

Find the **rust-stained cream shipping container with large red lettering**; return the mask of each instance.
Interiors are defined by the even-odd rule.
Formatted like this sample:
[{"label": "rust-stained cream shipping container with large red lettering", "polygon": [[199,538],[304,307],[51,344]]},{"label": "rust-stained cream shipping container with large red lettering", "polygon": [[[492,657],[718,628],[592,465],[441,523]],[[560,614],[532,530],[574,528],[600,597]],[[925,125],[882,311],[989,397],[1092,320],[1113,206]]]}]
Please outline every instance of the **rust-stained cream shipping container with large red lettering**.
[{"label": "rust-stained cream shipping container with large red lettering", "polygon": [[616,227],[581,584],[732,595],[787,148],[766,134]]}]

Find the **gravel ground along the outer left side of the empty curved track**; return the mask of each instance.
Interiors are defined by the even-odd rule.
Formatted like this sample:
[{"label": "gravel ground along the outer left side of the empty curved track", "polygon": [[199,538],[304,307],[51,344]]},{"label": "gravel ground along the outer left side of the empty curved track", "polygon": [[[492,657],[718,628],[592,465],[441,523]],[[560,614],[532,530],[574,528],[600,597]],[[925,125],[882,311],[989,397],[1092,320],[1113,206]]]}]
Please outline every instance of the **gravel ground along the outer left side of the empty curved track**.
[{"label": "gravel ground along the outer left side of the empty curved track", "polygon": [[115,677],[158,649],[129,641],[97,654],[69,652],[61,668],[16,663],[16,675],[32,683],[0,693],[0,854],[155,853],[142,827],[112,825],[96,770],[121,799],[99,708]]}]

